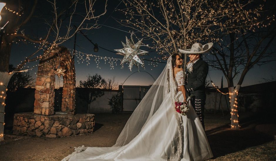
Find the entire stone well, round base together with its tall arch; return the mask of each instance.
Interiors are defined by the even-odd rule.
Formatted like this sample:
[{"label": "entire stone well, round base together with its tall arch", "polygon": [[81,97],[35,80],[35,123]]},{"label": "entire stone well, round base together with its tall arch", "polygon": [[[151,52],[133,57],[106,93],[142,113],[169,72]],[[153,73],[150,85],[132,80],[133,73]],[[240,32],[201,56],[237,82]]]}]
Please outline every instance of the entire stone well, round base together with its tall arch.
[{"label": "entire stone well, round base together with its tall arch", "polygon": [[[47,51],[46,51],[47,52]],[[75,65],[66,47],[57,47],[39,62],[34,110],[14,114],[13,133],[56,138],[93,132],[94,114],[75,114]],[[55,114],[55,74],[64,70],[61,112]],[[59,73],[60,74],[60,73]]]}]

